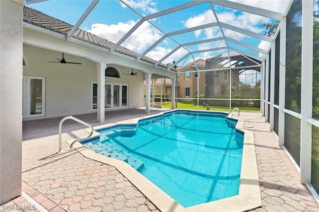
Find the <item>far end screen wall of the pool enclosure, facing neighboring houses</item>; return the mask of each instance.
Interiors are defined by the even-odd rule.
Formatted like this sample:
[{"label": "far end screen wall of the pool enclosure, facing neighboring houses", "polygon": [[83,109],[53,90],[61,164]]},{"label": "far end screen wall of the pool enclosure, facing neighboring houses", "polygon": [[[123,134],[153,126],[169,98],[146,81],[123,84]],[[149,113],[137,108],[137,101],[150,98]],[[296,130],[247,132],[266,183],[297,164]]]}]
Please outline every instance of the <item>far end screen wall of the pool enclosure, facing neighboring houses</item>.
[{"label": "far end screen wall of the pool enclosure, facing neighboring houses", "polygon": [[177,95],[177,103],[178,100],[192,101],[197,109],[260,108],[260,67],[260,61],[236,52],[209,58],[205,61],[204,70],[178,73],[178,78],[189,76],[193,83],[183,87],[184,83],[177,82],[180,84],[177,90],[184,90],[181,96]]}]

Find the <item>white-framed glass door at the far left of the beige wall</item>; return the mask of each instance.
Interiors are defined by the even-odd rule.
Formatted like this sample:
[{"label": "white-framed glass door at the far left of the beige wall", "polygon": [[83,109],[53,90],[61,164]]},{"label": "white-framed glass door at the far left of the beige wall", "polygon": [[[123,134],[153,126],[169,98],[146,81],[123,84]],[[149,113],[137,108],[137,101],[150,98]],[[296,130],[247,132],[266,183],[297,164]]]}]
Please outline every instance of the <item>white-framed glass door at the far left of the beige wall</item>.
[{"label": "white-framed glass door at the far left of the beige wall", "polygon": [[22,118],[45,115],[45,78],[23,76]]}]

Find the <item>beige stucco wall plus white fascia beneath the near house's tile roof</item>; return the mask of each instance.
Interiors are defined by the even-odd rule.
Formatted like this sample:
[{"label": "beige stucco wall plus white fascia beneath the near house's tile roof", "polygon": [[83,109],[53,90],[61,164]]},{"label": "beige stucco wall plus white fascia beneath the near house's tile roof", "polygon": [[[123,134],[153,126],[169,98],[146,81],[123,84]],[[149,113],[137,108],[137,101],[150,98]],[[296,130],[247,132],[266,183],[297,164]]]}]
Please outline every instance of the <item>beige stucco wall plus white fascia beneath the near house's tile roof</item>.
[{"label": "beige stucco wall plus white fascia beneath the near house's tile roof", "polygon": [[[81,65],[49,63],[58,62],[56,59],[60,60],[62,53],[66,61]],[[24,23],[23,28],[23,58],[26,64],[23,67],[23,76],[45,78],[45,114],[40,118],[96,112],[96,109],[92,109],[93,83],[128,87],[128,104],[106,110],[146,106],[148,113],[150,105],[144,105],[146,74],[149,74],[148,77],[152,77],[152,74],[157,77],[175,77],[173,71],[163,71],[146,62],[136,63],[134,58],[109,54],[107,49],[83,41],[71,39],[66,42],[65,37],[58,33],[48,33],[27,23]],[[114,67],[119,72],[119,78],[105,76],[107,67]],[[130,75],[132,69],[138,74]],[[159,71],[161,75],[157,74]],[[104,89],[104,86],[101,88]],[[98,88],[99,91],[101,88]],[[102,92],[98,92],[98,95],[104,97]],[[101,107],[98,109],[97,119],[104,122],[104,102],[99,101],[98,104]]]}]

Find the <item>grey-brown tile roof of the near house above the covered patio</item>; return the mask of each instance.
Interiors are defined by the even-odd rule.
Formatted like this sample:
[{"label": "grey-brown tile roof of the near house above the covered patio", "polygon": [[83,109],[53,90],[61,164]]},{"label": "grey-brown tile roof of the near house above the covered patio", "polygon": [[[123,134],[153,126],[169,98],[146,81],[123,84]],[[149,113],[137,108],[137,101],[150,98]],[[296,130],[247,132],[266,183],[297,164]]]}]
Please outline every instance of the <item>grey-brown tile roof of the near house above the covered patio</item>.
[{"label": "grey-brown tile roof of the near house above the covered patio", "polygon": [[[65,23],[64,21],[61,21],[59,19],[56,19],[54,17],[51,17],[49,15],[46,15],[36,9],[30,8],[30,7],[23,7],[23,22],[29,23],[44,29],[48,29],[53,32],[57,32],[63,35],[67,35],[68,32],[72,29],[72,25]],[[97,35],[94,35],[90,32],[87,32],[83,29],[78,29],[72,36],[75,39],[85,41],[87,43],[105,48],[105,49],[111,49],[112,46],[115,44],[102,38]],[[123,55],[130,56],[132,58],[137,58],[140,56],[139,53],[136,53],[132,50],[129,50],[127,48],[124,48],[122,46],[119,46],[116,48],[115,52],[118,52]],[[142,61],[155,64],[157,61],[149,58],[149,57],[143,57],[141,59]],[[164,64],[159,64],[160,67],[167,68]]]}]

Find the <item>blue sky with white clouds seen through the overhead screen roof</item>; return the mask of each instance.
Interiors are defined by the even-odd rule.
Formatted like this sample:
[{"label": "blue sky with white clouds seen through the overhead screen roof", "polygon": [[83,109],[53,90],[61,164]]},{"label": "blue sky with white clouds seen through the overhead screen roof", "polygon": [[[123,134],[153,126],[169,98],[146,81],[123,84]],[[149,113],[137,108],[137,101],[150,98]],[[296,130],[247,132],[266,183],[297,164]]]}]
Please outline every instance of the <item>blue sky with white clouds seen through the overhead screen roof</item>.
[{"label": "blue sky with white clouds seen through the overhead screen roof", "polygon": [[[288,0],[234,1],[279,12],[284,12],[289,2]],[[138,22],[138,20],[141,18],[139,14],[149,15],[189,2],[189,0],[125,0],[125,2],[137,12],[131,8],[128,8],[119,0],[100,0],[82,23],[80,28],[117,43],[125,35],[125,33],[128,32]],[[45,14],[74,25],[84,13],[86,8],[90,5],[90,3],[91,0],[48,0],[28,4],[27,6],[33,7]],[[245,13],[216,4],[212,4],[212,7],[217,13],[219,21],[260,34],[264,34],[265,32],[265,29],[261,27],[261,24],[274,21],[266,17]],[[212,12],[211,5],[207,2],[204,2],[190,8],[152,19],[151,23],[160,28],[160,30],[154,27],[151,23],[144,22],[124,43],[121,44],[121,46],[138,53],[143,53],[153,43],[160,39],[160,37],[163,35],[161,30],[165,33],[169,33],[202,24],[212,23],[215,21],[216,18]],[[264,42],[249,36],[244,36],[227,29],[223,29],[223,33],[226,37],[230,37],[241,42],[250,43],[251,45],[256,47],[258,46],[262,49],[269,48],[268,42]],[[210,27],[204,30],[197,30],[171,36],[171,38],[164,39],[146,56],[158,61],[167,53],[176,48],[179,44],[200,41],[219,36],[222,36],[222,32],[220,31],[219,27]],[[198,51],[222,47],[225,45],[225,42],[219,41],[187,46],[187,49],[189,51]],[[229,45],[232,45],[234,48],[238,48],[238,45]],[[243,50],[249,51],[250,54],[258,55],[257,52],[244,48]],[[167,58],[163,63],[169,63],[173,60],[177,61],[186,53],[187,51],[181,48]],[[220,53],[225,53],[225,51],[194,54],[194,59],[207,59]],[[188,57],[182,63],[186,64],[191,60],[192,58]]]}]

